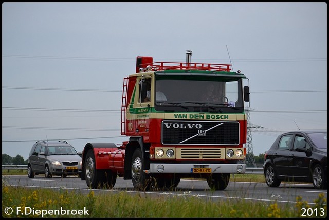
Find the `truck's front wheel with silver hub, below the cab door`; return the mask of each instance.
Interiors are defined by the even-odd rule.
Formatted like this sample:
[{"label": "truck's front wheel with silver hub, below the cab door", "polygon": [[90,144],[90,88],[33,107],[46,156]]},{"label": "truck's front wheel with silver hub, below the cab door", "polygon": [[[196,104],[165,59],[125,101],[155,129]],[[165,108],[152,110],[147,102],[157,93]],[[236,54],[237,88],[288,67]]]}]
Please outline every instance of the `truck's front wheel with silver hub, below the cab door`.
[{"label": "truck's front wheel with silver hub, below the cab door", "polygon": [[150,175],[146,174],[144,169],[144,161],[142,159],[142,152],[140,148],[137,148],[132,157],[131,172],[132,182],[136,190],[150,190],[152,181]]}]

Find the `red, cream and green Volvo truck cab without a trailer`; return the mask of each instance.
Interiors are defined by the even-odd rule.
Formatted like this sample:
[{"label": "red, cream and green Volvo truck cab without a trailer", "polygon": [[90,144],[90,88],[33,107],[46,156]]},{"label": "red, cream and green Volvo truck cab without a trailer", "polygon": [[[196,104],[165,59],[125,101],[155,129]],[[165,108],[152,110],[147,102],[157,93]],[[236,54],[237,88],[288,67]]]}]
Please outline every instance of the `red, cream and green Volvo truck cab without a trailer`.
[{"label": "red, cream and green Volvo truck cab without a trailer", "polygon": [[204,178],[224,190],[231,173],[245,172],[247,78],[230,64],[191,63],[191,54],[185,63],[137,57],[122,89],[121,135],[129,141],[85,145],[88,187],[111,189],[123,177],[150,190]]}]

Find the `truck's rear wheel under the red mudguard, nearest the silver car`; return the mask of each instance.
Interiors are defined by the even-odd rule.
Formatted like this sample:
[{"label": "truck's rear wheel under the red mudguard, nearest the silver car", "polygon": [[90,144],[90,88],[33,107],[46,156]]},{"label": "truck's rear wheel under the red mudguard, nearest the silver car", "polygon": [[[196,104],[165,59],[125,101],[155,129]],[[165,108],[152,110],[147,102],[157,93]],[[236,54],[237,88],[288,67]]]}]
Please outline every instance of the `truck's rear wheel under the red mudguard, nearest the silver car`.
[{"label": "truck's rear wheel under the red mudguard, nearest the silver car", "polygon": [[117,174],[111,170],[97,170],[93,150],[87,152],[84,172],[87,186],[92,189],[108,188],[112,189],[117,181]]}]

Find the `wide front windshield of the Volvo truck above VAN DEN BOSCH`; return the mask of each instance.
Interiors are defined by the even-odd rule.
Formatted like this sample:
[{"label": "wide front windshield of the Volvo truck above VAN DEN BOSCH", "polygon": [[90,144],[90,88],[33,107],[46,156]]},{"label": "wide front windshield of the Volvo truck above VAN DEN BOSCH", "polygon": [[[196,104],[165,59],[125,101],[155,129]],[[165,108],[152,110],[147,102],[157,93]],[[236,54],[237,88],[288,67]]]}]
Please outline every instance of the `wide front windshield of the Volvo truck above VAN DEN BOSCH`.
[{"label": "wide front windshield of the Volvo truck above VAN DEN BOSCH", "polygon": [[[217,77],[218,78],[218,77]],[[227,78],[226,78],[227,80]],[[156,105],[243,107],[242,82],[161,79],[155,82]],[[165,102],[167,101],[167,102]]]}]

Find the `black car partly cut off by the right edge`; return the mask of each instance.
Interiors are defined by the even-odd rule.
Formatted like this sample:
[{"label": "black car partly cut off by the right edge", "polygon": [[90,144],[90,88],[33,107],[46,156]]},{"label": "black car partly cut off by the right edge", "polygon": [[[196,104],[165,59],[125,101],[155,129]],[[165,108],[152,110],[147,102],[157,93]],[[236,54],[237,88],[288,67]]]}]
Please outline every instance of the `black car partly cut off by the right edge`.
[{"label": "black car partly cut off by the right edge", "polygon": [[313,183],[327,188],[327,131],[294,131],[279,135],[265,152],[264,175],[269,187],[281,181]]}]

